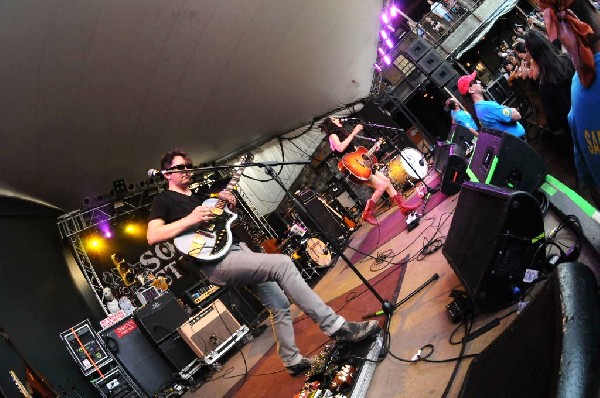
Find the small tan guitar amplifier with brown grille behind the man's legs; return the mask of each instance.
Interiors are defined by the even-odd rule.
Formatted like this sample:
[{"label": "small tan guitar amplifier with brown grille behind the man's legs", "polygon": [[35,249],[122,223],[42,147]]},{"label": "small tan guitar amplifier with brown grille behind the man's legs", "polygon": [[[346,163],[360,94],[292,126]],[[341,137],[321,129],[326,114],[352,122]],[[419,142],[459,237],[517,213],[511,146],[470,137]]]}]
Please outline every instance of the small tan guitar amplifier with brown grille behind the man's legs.
[{"label": "small tan guitar amplifier with brown grille behind the man's legs", "polygon": [[240,328],[240,324],[220,300],[204,308],[177,329],[183,340],[204,358]]}]

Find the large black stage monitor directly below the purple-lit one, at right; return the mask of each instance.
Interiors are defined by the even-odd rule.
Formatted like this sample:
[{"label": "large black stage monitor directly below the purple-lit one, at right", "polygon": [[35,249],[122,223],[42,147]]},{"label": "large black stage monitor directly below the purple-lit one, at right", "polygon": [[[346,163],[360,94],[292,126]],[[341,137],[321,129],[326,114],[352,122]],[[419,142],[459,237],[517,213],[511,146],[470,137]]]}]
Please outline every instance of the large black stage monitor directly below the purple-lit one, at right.
[{"label": "large black stage monitor directly below the purple-lit one, at right", "polygon": [[543,236],[531,194],[465,182],[442,252],[476,307],[502,308],[524,288]]}]

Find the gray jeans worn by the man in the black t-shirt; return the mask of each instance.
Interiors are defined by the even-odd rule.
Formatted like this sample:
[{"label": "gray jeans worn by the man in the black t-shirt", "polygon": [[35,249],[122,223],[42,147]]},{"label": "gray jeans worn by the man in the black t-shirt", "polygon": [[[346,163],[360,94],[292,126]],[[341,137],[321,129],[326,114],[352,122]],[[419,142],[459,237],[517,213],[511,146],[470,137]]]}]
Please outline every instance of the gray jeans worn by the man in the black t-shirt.
[{"label": "gray jeans worn by the man in the black t-shirt", "polygon": [[345,321],[312,291],[292,260],[283,254],[255,253],[240,243],[233,245],[220,263],[200,264],[200,271],[215,285],[246,285],[256,293],[271,314],[277,353],[285,366],[302,360],[294,337],[290,301],[329,336]]}]

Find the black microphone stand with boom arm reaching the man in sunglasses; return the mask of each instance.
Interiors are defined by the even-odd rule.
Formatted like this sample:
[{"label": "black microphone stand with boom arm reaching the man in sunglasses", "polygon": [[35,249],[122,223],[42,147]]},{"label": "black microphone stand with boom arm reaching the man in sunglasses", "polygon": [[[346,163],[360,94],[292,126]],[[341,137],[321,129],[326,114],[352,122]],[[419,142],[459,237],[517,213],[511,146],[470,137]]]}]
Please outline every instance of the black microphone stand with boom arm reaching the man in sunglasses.
[{"label": "black microphone stand with boom arm reaching the man in sunglasses", "polygon": [[373,285],[371,285],[369,283],[369,281],[363,276],[363,274],[358,270],[358,268],[356,268],[356,266],[354,264],[352,264],[350,259],[344,254],[342,247],[340,247],[340,245],[337,243],[337,241],[332,239],[331,236],[329,236],[329,233],[327,233],[327,231],[325,231],[323,229],[323,227],[321,226],[319,221],[317,221],[317,219],[312,216],[312,214],[308,211],[306,206],[304,206],[304,203],[302,203],[300,200],[298,200],[298,198],[296,198],[294,195],[292,195],[292,193],[286,188],[285,184],[281,180],[281,177],[279,177],[279,174],[277,174],[277,172],[273,169],[273,166],[286,166],[286,165],[293,165],[293,164],[294,165],[306,165],[306,164],[310,164],[310,162],[308,162],[308,161],[298,161],[298,162],[268,161],[268,162],[256,162],[256,163],[251,162],[251,163],[240,163],[238,165],[197,167],[197,168],[189,169],[189,171],[193,172],[193,173],[202,173],[202,172],[208,172],[208,171],[214,171],[214,170],[232,169],[232,168],[236,168],[236,167],[262,167],[262,168],[264,168],[265,172],[271,178],[273,178],[273,180],[281,187],[281,189],[283,189],[283,191],[285,192],[285,195],[290,198],[290,200],[296,207],[296,210],[302,212],[301,215],[305,216],[308,220],[310,220],[315,225],[317,232],[319,232],[325,238],[325,240],[327,240],[327,242],[331,245],[331,247],[333,247],[333,249],[337,253],[339,253],[340,258],[342,260],[344,260],[344,262],[356,274],[356,276],[367,287],[367,289],[369,289],[371,291],[371,293],[373,293],[373,295],[375,296],[377,301],[379,301],[379,303],[381,304],[382,313],[385,314],[389,319],[389,317],[394,313],[394,310],[395,310],[394,304],[392,304],[388,300],[385,300],[383,297],[381,297],[381,295],[377,292],[377,290],[375,290]]}]

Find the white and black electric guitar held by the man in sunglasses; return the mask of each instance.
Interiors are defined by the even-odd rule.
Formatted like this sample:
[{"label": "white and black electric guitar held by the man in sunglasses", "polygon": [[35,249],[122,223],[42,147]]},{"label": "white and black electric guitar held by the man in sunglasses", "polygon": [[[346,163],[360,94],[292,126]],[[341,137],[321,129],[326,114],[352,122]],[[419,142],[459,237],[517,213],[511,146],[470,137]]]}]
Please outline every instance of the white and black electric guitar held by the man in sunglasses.
[{"label": "white and black electric guitar held by the man in sunglasses", "polygon": [[[242,163],[248,162],[249,156],[244,156]],[[231,192],[240,180],[243,167],[238,167],[229,180],[224,191]],[[180,252],[195,257],[200,261],[216,261],[224,257],[232,242],[231,224],[237,214],[227,208],[227,201],[210,198],[202,203],[203,206],[212,207],[214,218],[209,222],[201,223],[188,232],[177,236],[174,240],[175,247]]]}]

